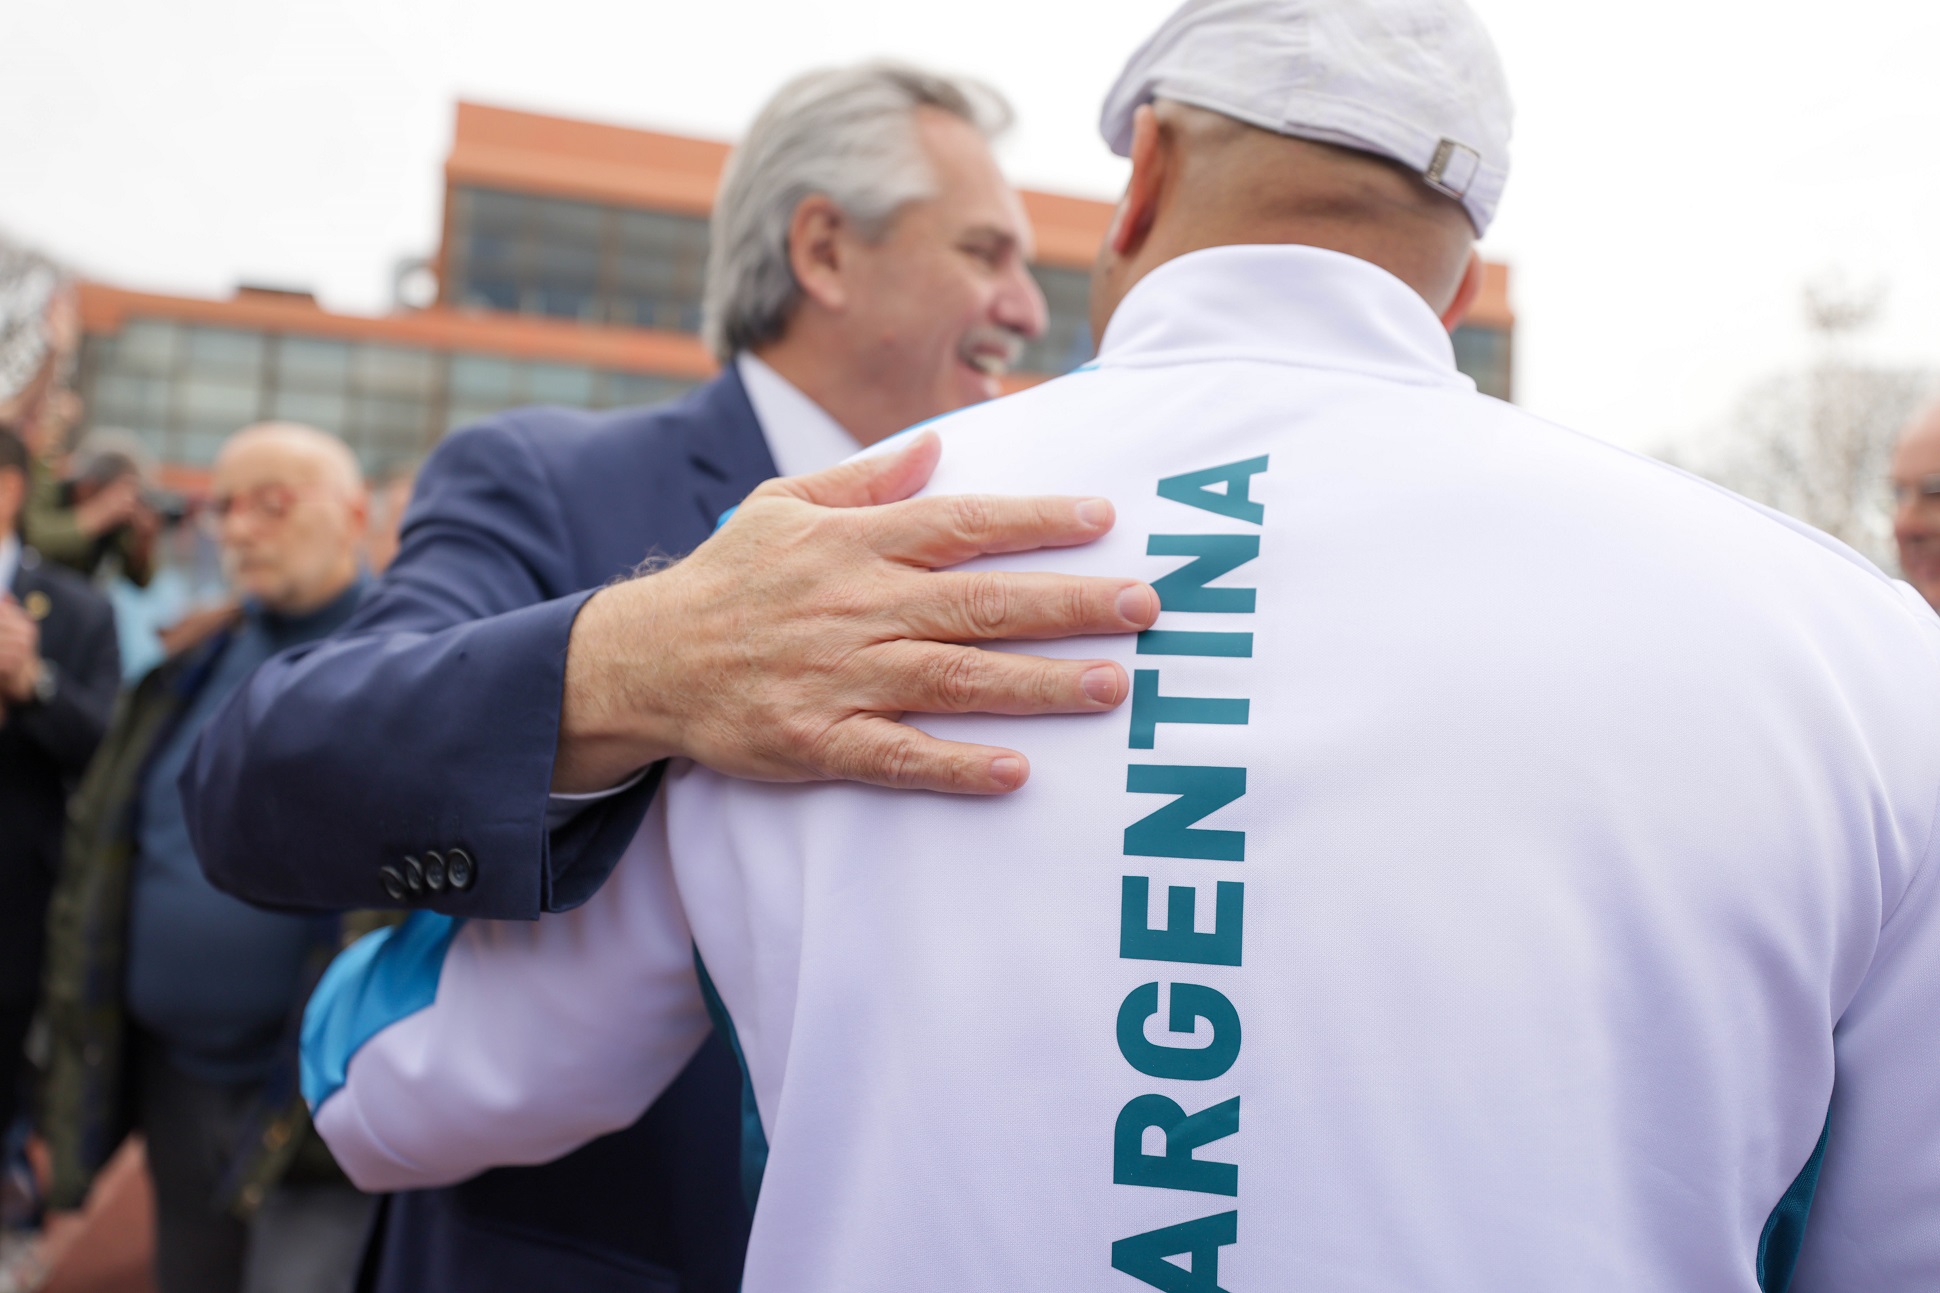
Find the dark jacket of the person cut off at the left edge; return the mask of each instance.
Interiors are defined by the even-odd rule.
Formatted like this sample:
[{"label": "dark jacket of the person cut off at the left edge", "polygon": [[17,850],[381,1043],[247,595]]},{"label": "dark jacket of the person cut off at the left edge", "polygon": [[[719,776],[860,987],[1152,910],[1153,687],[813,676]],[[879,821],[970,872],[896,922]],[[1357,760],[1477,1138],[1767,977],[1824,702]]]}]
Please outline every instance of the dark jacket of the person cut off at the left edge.
[{"label": "dark jacket of the person cut off at the left edge", "polygon": [[[12,592],[39,621],[41,658],[56,678],[50,701],[0,718],[0,1006],[31,1008],[68,790],[107,730],[120,652],[107,598],[31,547]],[[0,1066],[0,1079],[12,1081],[12,1066]]]}]

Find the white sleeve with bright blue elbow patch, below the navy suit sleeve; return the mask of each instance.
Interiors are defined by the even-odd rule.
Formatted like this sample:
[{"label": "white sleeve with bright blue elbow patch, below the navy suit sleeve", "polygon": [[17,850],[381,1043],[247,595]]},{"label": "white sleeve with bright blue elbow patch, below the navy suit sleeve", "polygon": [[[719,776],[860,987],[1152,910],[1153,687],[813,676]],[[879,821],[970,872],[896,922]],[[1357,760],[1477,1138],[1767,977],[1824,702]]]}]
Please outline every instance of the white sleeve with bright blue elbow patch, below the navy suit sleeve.
[{"label": "white sleeve with bright blue elbow patch, below the navy suit sleeve", "polygon": [[681,1074],[710,1025],[663,800],[584,907],[419,912],[330,967],[305,1013],[303,1087],[359,1188],[547,1163],[630,1126]]}]

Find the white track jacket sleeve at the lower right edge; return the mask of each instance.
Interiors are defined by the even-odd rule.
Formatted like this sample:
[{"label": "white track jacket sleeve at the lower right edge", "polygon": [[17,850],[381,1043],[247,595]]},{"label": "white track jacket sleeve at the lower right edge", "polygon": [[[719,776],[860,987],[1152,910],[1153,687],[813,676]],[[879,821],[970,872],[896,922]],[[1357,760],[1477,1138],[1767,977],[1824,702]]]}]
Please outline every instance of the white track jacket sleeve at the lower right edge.
[{"label": "white track jacket sleeve at the lower right edge", "polygon": [[1940,858],[1880,932],[1833,1031],[1826,1159],[1793,1293],[1940,1289]]}]

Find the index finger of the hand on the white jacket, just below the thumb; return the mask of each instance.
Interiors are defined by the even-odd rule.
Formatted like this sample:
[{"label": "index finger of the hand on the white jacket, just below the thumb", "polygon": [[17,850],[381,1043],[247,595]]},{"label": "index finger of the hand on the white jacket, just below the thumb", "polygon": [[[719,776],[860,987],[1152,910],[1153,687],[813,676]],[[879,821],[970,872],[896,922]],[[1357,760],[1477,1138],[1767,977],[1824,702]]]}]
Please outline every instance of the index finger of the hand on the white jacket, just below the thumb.
[{"label": "index finger of the hand on the white jacket, just below the thumb", "polygon": [[1114,520],[1110,499],[960,493],[885,507],[869,524],[871,544],[885,557],[943,567],[999,551],[1090,544]]}]

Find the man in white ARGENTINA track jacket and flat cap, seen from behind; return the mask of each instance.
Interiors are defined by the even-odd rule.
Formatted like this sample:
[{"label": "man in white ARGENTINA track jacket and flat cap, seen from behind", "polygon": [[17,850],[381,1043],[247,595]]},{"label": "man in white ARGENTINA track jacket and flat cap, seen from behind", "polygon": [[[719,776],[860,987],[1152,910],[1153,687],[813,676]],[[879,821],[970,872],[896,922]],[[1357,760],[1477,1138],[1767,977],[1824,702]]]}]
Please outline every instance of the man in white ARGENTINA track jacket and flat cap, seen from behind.
[{"label": "man in white ARGENTINA track jacket and flat cap, seen from behind", "polygon": [[751,1293],[1940,1287],[1940,621],[1455,371],[1507,120],[1459,0],[1174,16],[1098,363],[931,485],[1116,501],[1127,711],[925,718],[1001,802],[675,769],[580,911],[361,945],[351,1175],[623,1126],[712,998]]}]

